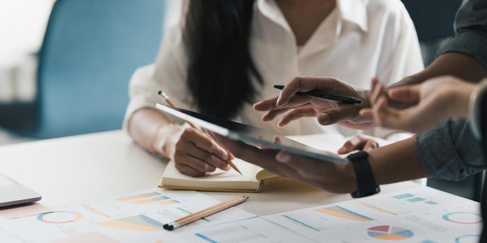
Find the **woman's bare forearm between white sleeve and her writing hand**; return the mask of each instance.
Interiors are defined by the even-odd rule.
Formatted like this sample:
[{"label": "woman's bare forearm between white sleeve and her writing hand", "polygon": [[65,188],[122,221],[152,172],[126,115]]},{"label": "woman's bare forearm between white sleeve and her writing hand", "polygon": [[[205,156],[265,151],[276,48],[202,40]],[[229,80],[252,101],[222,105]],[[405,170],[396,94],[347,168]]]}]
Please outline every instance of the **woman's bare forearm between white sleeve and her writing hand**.
[{"label": "woman's bare forearm between white sleeve and her writing hand", "polygon": [[152,108],[142,108],[134,112],[129,119],[129,134],[144,149],[161,152],[154,148],[158,132],[163,126],[171,126],[161,112]]}]

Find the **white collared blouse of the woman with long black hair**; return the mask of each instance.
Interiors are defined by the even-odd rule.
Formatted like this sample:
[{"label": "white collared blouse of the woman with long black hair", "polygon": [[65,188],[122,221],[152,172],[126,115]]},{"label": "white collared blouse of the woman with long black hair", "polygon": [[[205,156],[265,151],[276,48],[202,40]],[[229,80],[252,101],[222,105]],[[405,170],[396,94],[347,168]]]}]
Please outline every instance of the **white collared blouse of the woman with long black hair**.
[{"label": "white collared blouse of the woman with long black hair", "polygon": [[[279,90],[273,85],[285,85],[295,76],[330,76],[368,89],[373,77],[392,84],[424,68],[415,27],[399,0],[337,0],[335,10],[301,47],[276,2],[256,0],[250,51],[264,80],[257,101],[277,96]],[[159,90],[181,108],[196,110],[186,88],[186,61],[181,24],[169,26],[155,64],[140,67],[131,78],[125,127],[134,111],[163,103]],[[237,120],[284,135],[334,132],[385,137],[391,133],[383,128],[362,132],[321,126],[315,118],[278,128],[278,119],[263,123],[261,117],[262,112],[248,104]]]}]

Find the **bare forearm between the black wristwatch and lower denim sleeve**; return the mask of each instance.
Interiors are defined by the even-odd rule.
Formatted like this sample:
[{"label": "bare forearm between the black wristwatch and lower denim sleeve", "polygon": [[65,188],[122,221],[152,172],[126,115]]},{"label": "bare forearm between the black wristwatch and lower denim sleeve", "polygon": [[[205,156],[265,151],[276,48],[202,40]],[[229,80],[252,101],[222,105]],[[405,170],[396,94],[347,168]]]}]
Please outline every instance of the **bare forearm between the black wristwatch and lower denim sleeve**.
[{"label": "bare forearm between the black wristwatch and lower denim sleeve", "polygon": [[429,176],[420,162],[415,136],[370,151],[369,162],[378,185]]}]

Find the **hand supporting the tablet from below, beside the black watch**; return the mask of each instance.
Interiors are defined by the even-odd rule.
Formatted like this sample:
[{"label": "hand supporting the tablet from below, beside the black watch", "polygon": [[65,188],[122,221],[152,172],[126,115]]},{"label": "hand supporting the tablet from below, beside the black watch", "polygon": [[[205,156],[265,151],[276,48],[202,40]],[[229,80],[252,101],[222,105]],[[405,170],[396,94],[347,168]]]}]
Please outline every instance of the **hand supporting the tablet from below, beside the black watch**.
[{"label": "hand supporting the tablet from below, beside the black watch", "polygon": [[346,165],[316,160],[274,149],[258,149],[244,142],[235,142],[213,134],[218,143],[235,157],[258,165],[268,171],[303,181],[335,193],[353,192],[357,188],[355,171]]}]

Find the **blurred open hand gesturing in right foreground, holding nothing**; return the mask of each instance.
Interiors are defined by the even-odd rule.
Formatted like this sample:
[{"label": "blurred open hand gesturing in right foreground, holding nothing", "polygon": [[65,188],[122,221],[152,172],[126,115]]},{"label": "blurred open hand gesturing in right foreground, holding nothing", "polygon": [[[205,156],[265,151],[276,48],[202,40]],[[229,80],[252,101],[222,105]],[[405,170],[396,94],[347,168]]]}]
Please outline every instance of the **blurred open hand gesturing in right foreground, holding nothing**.
[{"label": "blurred open hand gesturing in right foreground, holding nothing", "polygon": [[[374,117],[378,126],[422,133],[452,117],[467,117],[470,94],[475,85],[452,76],[431,78],[418,85],[392,87],[372,82],[372,108],[360,111]],[[390,101],[404,104],[393,108]],[[406,108],[407,107],[407,108]]]}]

